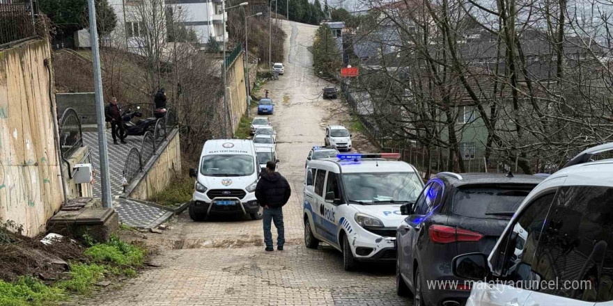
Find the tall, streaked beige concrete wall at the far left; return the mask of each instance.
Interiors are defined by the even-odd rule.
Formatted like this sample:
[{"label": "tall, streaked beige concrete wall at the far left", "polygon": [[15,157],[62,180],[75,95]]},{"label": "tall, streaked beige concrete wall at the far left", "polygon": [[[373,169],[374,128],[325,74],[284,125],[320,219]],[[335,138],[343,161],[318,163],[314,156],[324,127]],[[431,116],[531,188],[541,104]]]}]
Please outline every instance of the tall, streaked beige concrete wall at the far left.
[{"label": "tall, streaked beige concrete wall at the far left", "polygon": [[28,236],[45,230],[63,200],[47,58],[46,40],[0,51],[0,222]]}]

